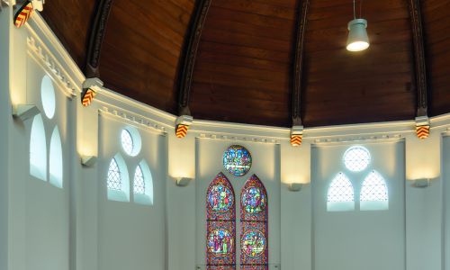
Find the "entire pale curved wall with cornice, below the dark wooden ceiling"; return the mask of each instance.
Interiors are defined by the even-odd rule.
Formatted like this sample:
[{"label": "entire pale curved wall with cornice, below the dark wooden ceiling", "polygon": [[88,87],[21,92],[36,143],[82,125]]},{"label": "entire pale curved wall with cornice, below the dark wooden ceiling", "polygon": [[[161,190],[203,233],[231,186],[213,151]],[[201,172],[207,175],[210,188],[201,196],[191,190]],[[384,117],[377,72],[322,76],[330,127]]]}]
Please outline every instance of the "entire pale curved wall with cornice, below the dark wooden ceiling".
[{"label": "entire pale curved wall with cornice, below the dark wooden ceiling", "polygon": [[[204,266],[206,188],[224,172],[223,151],[241,144],[252,153],[252,169],[244,177],[224,173],[237,198],[252,174],[266,185],[271,269],[450,270],[450,173],[444,166],[450,143],[442,139],[450,115],[432,118],[425,140],[416,138],[414,121],[399,121],[307,128],[302,147],[293,148],[289,129],[197,120],[177,139],[174,115],[106,88],[91,106],[81,106],[85,78],[39,14],[21,30],[12,16],[10,7],[0,12],[0,269]],[[11,116],[12,104],[42,109],[44,74],[56,87],[57,116],[45,124],[48,145],[55,125],[61,133],[62,189],[29,174],[31,121]],[[121,152],[118,135],[128,125],[139,130],[143,148],[139,157],[122,156],[130,177],[137,160],[147,160],[153,205],[134,202],[132,194],[130,202],[107,198],[107,167]],[[391,139],[402,142],[386,142]],[[390,183],[389,211],[325,211],[326,187],[341,165],[336,160],[356,140],[383,157],[374,166]],[[80,155],[98,160],[82,166]],[[177,176],[193,181],[179,187]],[[421,177],[433,178],[431,185],[413,187],[410,180]],[[289,191],[291,183],[304,184],[302,191]]]}]

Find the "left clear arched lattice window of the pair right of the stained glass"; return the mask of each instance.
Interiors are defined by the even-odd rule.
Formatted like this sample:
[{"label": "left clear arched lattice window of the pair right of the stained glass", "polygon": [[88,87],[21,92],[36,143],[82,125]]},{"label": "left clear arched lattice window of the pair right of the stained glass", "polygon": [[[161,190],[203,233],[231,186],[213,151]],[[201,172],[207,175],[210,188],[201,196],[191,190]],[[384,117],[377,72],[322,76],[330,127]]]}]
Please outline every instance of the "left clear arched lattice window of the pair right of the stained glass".
[{"label": "left clear arched lattice window of the pair right of the stained glass", "polygon": [[355,210],[355,192],[347,175],[338,173],[329,184],[328,211]]}]

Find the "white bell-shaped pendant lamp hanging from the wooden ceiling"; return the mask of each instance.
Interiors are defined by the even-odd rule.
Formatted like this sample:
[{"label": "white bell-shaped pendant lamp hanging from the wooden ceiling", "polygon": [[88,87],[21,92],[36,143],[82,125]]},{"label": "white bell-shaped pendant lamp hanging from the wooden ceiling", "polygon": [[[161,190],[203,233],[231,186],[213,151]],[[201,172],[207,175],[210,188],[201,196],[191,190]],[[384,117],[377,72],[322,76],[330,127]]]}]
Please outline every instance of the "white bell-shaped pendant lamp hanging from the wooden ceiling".
[{"label": "white bell-shaped pendant lamp hanging from the wooden ceiling", "polygon": [[366,28],[367,21],[365,19],[355,19],[348,23],[347,50],[361,51],[369,48]]}]

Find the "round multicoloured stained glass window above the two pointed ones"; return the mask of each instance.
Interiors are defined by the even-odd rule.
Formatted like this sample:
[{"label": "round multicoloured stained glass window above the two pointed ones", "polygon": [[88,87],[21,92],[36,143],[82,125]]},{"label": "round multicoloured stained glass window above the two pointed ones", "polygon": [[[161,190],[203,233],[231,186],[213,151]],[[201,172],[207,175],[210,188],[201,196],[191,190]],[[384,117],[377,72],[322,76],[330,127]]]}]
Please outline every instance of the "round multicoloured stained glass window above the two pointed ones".
[{"label": "round multicoloured stained glass window above the two pointed ones", "polygon": [[223,153],[223,166],[231,175],[246,175],[252,166],[252,156],[247,148],[232,145]]}]

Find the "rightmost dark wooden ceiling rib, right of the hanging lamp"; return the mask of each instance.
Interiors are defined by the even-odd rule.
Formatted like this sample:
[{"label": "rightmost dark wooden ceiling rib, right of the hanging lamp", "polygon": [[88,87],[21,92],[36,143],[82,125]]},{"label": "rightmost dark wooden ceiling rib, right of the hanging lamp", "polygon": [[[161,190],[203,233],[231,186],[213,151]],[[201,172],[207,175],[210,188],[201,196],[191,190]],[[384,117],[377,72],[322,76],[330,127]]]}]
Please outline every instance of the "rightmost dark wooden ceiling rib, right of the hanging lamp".
[{"label": "rightmost dark wooden ceiling rib, right of the hanging lamp", "polygon": [[410,8],[414,68],[417,88],[417,116],[426,116],[428,114],[428,83],[420,1],[408,0],[408,5]]}]

